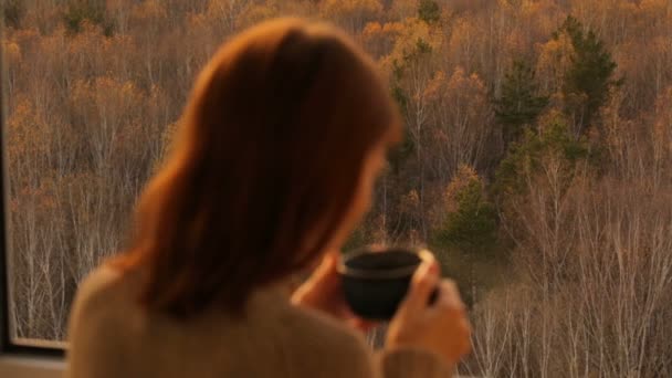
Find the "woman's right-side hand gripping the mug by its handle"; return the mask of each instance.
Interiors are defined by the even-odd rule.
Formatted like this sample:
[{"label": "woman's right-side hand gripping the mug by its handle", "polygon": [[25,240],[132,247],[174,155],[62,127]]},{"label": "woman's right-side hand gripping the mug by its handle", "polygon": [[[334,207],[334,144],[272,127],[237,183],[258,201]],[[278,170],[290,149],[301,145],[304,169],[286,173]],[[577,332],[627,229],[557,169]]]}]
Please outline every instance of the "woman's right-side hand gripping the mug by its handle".
[{"label": "woman's right-side hand gripping the mug by its handle", "polygon": [[[432,291],[439,296],[429,305]],[[423,263],[413,275],[406,300],[392,318],[387,347],[411,346],[431,350],[455,366],[471,350],[471,326],[458,287],[441,280],[435,261]]]}]

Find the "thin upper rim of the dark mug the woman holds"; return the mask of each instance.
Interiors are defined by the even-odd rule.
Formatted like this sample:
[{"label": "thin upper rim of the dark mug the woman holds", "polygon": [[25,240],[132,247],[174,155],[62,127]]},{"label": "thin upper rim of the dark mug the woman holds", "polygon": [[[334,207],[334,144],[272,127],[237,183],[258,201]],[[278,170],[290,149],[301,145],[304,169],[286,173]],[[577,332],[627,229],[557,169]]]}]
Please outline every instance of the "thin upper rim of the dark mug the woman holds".
[{"label": "thin upper rim of the dark mug the woman holds", "polygon": [[[396,267],[396,269],[385,270],[385,271],[369,271],[366,269],[349,267],[346,265],[346,261],[349,261],[349,260],[360,256],[363,254],[380,253],[380,252],[385,252],[385,251],[395,251],[395,250],[413,253],[420,259],[420,262],[412,266],[402,266],[402,267]],[[340,275],[354,277],[354,279],[366,279],[366,280],[401,279],[401,277],[411,275],[418,269],[418,265],[420,265],[420,263],[422,263],[424,261],[429,261],[429,260],[431,260],[431,258],[432,258],[432,253],[429,250],[423,249],[423,248],[369,246],[369,248],[361,248],[359,250],[356,250],[354,252],[350,252],[350,253],[342,256],[338,261],[338,265],[336,266],[336,271]]]}]

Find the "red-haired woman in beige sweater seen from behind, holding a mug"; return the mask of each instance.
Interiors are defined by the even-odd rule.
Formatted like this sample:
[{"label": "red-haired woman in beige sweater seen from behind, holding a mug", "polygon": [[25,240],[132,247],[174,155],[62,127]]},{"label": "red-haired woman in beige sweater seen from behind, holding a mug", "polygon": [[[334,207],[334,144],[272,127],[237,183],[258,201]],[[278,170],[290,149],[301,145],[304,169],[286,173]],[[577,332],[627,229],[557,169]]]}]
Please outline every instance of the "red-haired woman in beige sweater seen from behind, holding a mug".
[{"label": "red-haired woman in beige sweater seen from behind, holding a mug", "polygon": [[435,262],[377,356],[335,271],[400,127],[374,63],[340,32],[292,19],[234,38],[196,83],[132,248],[80,287],[67,376],[450,376],[470,330]]}]

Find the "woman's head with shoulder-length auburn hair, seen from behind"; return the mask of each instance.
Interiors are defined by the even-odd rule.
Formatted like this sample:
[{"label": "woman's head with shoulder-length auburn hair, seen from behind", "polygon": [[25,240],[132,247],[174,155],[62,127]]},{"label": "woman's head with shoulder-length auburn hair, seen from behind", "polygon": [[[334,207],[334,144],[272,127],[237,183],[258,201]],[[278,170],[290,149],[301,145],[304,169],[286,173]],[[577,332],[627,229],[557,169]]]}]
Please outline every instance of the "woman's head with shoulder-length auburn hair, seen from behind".
[{"label": "woman's head with shoulder-length auburn hair, seen from behind", "polygon": [[400,134],[374,63],[340,32],[287,19],[235,36],[138,204],[122,261],[147,269],[143,301],[178,316],[242,309],[343,242]]}]

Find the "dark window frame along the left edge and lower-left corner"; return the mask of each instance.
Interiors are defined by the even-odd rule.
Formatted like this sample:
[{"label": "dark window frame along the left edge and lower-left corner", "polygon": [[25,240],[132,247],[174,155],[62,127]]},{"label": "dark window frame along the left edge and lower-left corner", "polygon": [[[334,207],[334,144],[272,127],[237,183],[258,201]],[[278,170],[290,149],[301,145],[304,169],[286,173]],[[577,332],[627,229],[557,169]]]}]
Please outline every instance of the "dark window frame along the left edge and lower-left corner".
[{"label": "dark window frame along the left edge and lower-left corner", "polygon": [[[0,39],[4,35],[4,20],[0,20]],[[66,344],[63,342],[50,340],[32,340],[23,342],[13,340],[11,337],[10,324],[10,282],[9,282],[9,244],[8,244],[8,222],[7,222],[7,202],[8,193],[6,183],[9,182],[7,174],[7,130],[6,119],[7,102],[4,83],[6,64],[4,52],[0,44],[0,358],[3,356],[18,357],[48,357],[50,359],[61,360],[65,355]]]}]

